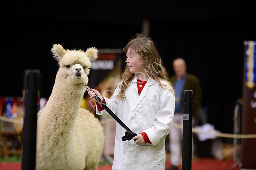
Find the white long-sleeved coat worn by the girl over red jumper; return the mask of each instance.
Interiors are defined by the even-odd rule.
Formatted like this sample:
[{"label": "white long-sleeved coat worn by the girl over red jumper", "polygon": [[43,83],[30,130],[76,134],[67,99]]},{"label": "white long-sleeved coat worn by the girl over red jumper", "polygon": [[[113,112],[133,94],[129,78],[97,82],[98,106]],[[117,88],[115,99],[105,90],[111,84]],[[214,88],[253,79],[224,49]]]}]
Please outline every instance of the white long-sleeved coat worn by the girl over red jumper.
[{"label": "white long-sleeved coat worn by the girl over red jumper", "polygon": [[[138,95],[137,75],[125,91],[125,99],[113,96],[105,98],[106,105],[134,133],[145,132],[152,144],[137,145],[133,140],[122,141],[126,130],[116,123],[115,151],[112,170],[149,169],[164,170],[165,137],[168,135],[174,116],[175,97],[170,90],[161,88],[151,77],[140,96]],[[162,81],[165,84],[167,82]],[[171,89],[171,88],[170,88]],[[171,89],[172,90],[172,89]],[[112,118],[106,110],[96,113]]]}]

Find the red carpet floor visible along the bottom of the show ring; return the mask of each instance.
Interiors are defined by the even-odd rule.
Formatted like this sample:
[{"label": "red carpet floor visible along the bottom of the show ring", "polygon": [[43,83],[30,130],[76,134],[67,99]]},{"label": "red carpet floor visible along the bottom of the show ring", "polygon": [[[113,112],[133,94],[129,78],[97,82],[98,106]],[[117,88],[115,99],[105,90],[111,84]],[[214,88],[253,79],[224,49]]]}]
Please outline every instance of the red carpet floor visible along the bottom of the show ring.
[{"label": "red carpet floor visible along the bottom of the show ring", "polygon": [[[211,158],[200,158],[192,161],[192,170],[229,170],[235,162],[232,160],[216,160]],[[165,167],[171,164],[166,161]],[[21,163],[0,162],[1,170],[21,170]],[[238,170],[237,167],[234,170]],[[97,170],[111,170],[111,165],[99,166]]]}]

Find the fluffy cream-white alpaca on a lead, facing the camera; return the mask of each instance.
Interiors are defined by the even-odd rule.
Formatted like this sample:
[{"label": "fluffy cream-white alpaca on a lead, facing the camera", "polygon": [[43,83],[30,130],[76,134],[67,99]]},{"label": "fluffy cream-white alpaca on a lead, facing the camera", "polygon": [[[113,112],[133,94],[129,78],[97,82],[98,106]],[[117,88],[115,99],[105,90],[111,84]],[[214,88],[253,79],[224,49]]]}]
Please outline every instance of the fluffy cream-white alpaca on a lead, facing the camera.
[{"label": "fluffy cream-white alpaca on a lead, facing the camera", "polygon": [[97,169],[104,145],[103,129],[97,118],[82,109],[92,60],[98,50],[64,50],[52,47],[59,61],[52,94],[37,119],[37,170]]}]

